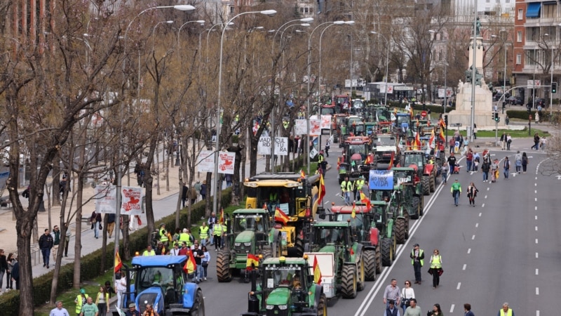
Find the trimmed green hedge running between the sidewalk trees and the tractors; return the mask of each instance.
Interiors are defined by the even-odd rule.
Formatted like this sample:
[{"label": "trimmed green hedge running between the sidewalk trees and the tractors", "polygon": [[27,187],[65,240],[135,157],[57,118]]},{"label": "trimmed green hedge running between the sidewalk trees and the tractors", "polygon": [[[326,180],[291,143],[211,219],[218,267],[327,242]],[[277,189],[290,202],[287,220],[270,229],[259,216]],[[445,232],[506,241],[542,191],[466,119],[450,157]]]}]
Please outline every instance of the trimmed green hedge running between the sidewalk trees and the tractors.
[{"label": "trimmed green hedge running between the sidewalk trees and the tractors", "polygon": [[[222,207],[224,209],[230,205],[231,202],[231,188],[222,190]],[[182,209],[180,213],[180,223],[187,223],[187,209]],[[196,222],[199,218],[205,216],[205,202],[201,201],[191,207],[191,220]],[[165,216],[156,222],[156,226],[160,223],[165,223],[170,231],[175,231],[175,212]],[[148,230],[146,227],[137,230],[129,236],[129,249],[134,251],[136,249],[145,249],[148,240]],[[123,249],[123,244],[121,244]],[[109,269],[112,268],[114,253],[114,243],[107,244],[107,252],[105,256],[105,264]],[[130,254],[130,255],[133,255]],[[80,277],[81,281],[94,279],[100,275],[100,266],[102,261],[101,249],[87,254],[80,259]],[[109,270],[108,269],[108,270]],[[50,299],[50,286],[53,283],[54,271],[48,272],[46,275],[41,275],[33,279],[33,299],[35,306],[43,305]],[[74,263],[67,263],[62,265],[58,275],[57,294],[60,294],[72,288],[74,279]],[[20,315],[20,292],[8,291],[8,293],[0,296],[0,306],[2,307],[2,315],[4,316],[19,316]]]}]

